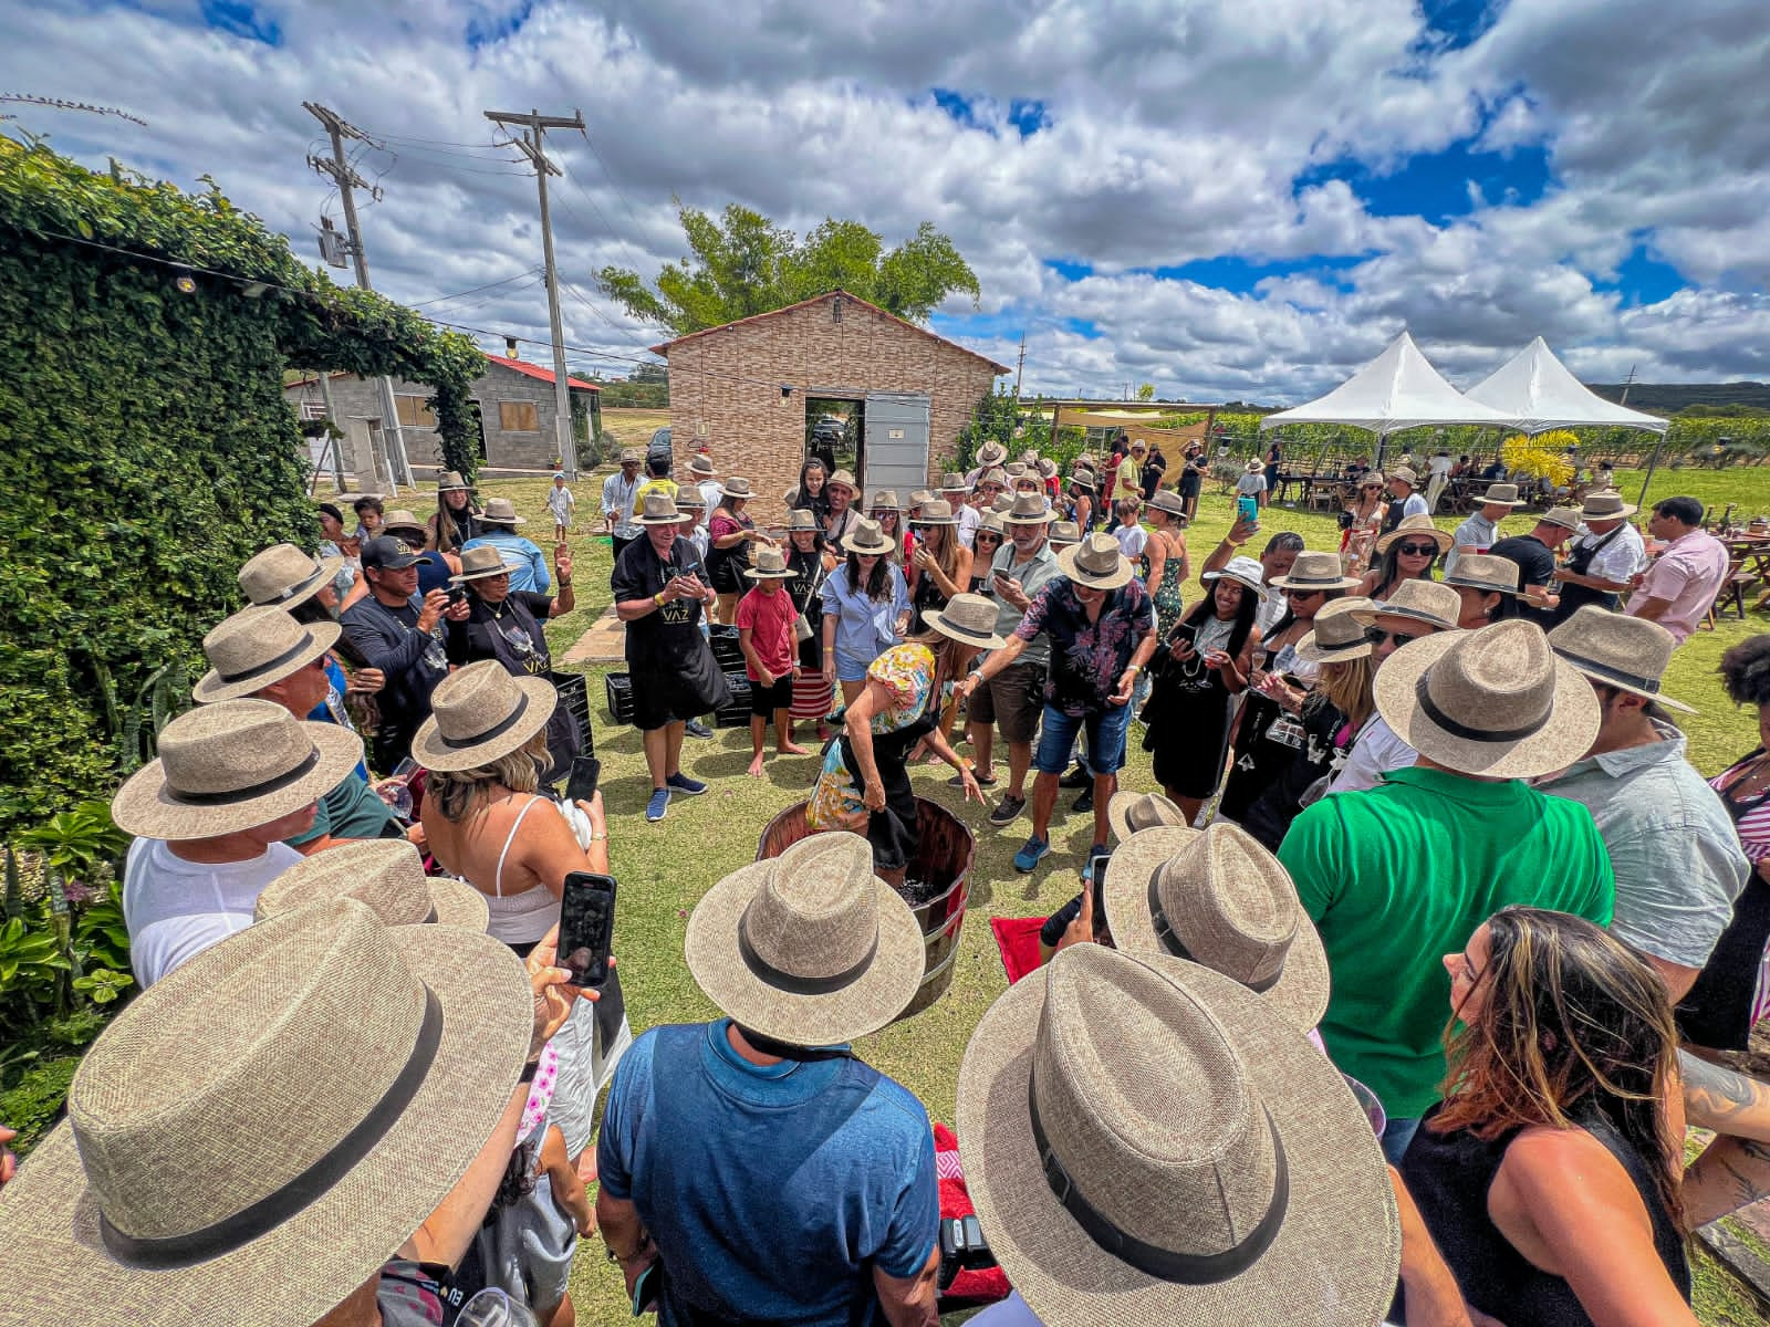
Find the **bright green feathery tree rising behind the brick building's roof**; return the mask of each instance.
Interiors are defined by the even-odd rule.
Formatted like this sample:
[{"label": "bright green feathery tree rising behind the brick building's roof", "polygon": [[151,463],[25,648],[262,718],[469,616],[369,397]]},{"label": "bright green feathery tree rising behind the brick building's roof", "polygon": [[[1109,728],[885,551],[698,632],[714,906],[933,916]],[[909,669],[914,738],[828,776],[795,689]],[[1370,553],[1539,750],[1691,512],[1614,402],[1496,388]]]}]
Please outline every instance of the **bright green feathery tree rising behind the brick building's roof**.
[{"label": "bright green feathery tree rising behind the brick building's roof", "polygon": [[694,207],[676,216],[689,241],[687,260],[664,264],[651,285],[627,267],[604,267],[596,280],[635,318],[678,336],[830,290],[848,290],[910,322],[927,322],[954,290],[974,304],[981,295],[977,274],[929,221],[887,251],[885,241],[858,221],[827,218],[800,241],[738,203],[717,221]]}]

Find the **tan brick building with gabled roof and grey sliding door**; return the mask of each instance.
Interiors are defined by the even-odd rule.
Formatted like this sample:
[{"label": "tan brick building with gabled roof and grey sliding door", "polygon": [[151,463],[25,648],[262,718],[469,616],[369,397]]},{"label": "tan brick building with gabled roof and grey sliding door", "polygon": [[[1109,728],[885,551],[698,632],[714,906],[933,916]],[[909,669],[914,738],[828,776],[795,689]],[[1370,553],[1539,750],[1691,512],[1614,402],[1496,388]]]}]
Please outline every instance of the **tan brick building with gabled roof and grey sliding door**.
[{"label": "tan brick building with gabled roof and grey sliding door", "polygon": [[704,444],[722,476],[756,485],[765,520],[781,517],[823,410],[853,421],[862,487],[908,499],[938,479],[977,402],[1009,372],[843,290],[651,350],[669,361],[678,465]]}]

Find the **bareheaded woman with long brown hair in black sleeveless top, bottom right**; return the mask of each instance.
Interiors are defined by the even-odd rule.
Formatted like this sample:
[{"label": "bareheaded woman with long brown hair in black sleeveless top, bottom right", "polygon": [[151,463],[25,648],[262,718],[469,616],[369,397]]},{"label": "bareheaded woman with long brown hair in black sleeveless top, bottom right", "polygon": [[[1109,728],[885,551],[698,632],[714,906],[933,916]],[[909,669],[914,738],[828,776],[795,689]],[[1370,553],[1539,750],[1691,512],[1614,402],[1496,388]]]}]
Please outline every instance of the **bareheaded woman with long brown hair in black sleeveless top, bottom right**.
[{"label": "bareheaded woman with long brown hair in black sleeveless top, bottom right", "polygon": [[1444,1101],[1400,1173],[1469,1308],[1508,1327],[1694,1327],[1658,975],[1540,908],[1494,913],[1444,968]]}]

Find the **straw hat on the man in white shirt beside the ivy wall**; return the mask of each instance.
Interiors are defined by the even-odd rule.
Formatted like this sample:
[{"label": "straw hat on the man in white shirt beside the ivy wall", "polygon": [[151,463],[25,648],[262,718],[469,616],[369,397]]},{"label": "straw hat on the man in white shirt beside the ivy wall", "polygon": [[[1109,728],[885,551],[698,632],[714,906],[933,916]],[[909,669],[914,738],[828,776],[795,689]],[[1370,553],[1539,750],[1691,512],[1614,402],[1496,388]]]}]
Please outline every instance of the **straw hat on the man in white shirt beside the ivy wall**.
[{"label": "straw hat on the man in white shirt beside the ivy wall", "polygon": [[173,718],[159,759],[129,775],[112,819],[140,839],[212,839],[301,810],[343,782],[363,740],[271,701],[218,701]]}]

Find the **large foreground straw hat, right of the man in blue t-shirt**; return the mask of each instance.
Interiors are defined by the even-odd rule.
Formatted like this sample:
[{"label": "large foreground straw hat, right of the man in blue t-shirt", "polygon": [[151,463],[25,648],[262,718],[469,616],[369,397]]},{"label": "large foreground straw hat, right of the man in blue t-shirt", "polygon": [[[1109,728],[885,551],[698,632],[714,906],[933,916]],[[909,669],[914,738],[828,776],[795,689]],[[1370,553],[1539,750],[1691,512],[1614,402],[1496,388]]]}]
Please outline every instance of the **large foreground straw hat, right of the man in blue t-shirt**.
[{"label": "large foreground straw hat, right of the man in blue t-shirt", "polygon": [[989,1247],[1043,1322],[1368,1327],[1395,1292],[1400,1221],[1363,1108],[1209,968],[1060,952],[977,1024],[958,1134]]}]

